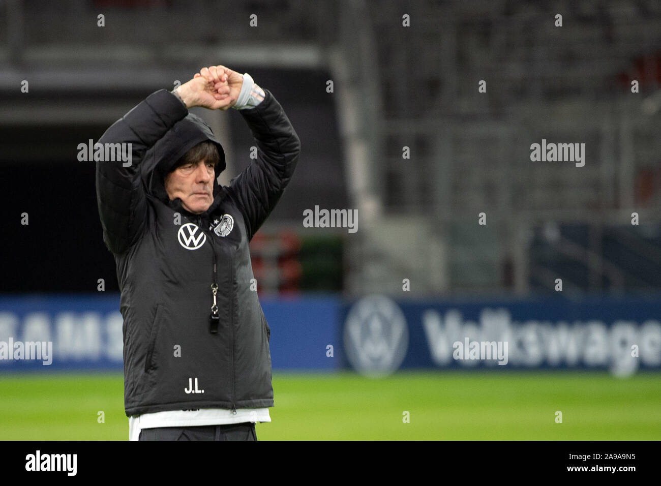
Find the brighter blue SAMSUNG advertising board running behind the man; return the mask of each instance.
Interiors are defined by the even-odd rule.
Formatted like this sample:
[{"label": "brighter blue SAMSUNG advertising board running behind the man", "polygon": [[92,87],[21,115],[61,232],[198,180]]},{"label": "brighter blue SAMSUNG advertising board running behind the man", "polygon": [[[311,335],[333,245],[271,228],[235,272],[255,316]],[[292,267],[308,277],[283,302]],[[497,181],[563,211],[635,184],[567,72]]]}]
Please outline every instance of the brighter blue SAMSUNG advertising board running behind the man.
[{"label": "brighter blue SAMSUNG advertising board running behind the man", "polygon": [[[262,299],[274,369],[333,370],[335,297]],[[122,370],[118,294],[0,297],[0,373],[18,370]]]}]

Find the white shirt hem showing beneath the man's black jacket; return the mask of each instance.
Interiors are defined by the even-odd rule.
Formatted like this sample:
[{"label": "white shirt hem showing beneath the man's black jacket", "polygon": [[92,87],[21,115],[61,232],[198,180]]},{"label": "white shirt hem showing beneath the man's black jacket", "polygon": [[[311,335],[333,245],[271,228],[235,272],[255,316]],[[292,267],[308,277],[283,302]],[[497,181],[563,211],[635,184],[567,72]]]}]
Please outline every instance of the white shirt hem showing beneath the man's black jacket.
[{"label": "white shirt hem showing beneath the man's black jacket", "polygon": [[270,422],[268,408],[237,409],[233,414],[227,409],[171,410],[143,413],[128,418],[128,439],[138,440],[140,430],[156,427],[193,427],[200,425],[227,425],[242,422]]}]

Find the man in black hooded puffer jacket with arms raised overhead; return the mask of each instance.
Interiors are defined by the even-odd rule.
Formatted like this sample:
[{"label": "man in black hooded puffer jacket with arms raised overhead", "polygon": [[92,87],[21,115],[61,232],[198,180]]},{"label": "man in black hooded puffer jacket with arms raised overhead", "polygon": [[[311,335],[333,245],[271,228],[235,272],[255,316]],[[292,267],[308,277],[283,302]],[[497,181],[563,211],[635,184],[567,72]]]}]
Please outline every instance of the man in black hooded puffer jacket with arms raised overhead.
[{"label": "man in black hooded puffer jacket with arms raised overhead", "polygon": [[[192,106],[240,110],[257,157],[229,186],[223,147]],[[124,317],[131,440],[256,440],[273,406],[270,329],[248,243],[282,196],[300,142],[272,93],[245,73],[203,68],[152,93],[98,143],[98,213]],[[130,145],[129,145],[130,144]]]}]

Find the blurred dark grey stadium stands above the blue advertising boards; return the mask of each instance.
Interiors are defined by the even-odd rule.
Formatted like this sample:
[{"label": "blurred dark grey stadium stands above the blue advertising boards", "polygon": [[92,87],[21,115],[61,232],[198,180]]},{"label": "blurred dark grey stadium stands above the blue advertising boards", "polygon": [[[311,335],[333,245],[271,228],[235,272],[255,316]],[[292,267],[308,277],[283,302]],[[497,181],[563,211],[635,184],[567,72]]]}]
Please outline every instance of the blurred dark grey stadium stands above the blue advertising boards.
[{"label": "blurred dark grey stadium stands above the blue advertising boards", "polygon": [[[401,28],[404,13],[414,28]],[[258,28],[248,26],[251,14]],[[343,264],[303,258],[303,268],[326,270],[294,284],[299,269],[276,264],[260,290],[358,296],[401,292],[410,278],[415,295],[555,294],[559,274],[570,298],[658,290],[660,20],[656,0],[253,0],[231,8],[6,0],[2,170],[22,168],[45,187],[54,175],[44,167],[42,181],[26,162],[71,169],[77,143],[213,60],[277,92],[304,141],[290,196],[262,231],[304,236],[301,212],[314,204],[360,215],[355,234],[325,230],[322,253],[343,247]],[[29,98],[17,94],[22,79],[30,79]],[[223,138],[227,183],[251,138],[225,113],[204,116]],[[531,162],[529,146],[543,138],[586,143],[585,166]],[[92,208],[75,221],[98,227]],[[480,212],[486,226],[477,225]],[[640,225],[631,225],[632,212]],[[100,231],[90,238],[100,241]],[[54,278],[48,288],[37,275],[23,278],[22,288],[3,279],[1,290],[85,290],[80,281]]]}]

